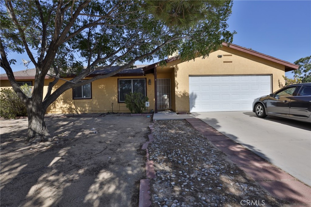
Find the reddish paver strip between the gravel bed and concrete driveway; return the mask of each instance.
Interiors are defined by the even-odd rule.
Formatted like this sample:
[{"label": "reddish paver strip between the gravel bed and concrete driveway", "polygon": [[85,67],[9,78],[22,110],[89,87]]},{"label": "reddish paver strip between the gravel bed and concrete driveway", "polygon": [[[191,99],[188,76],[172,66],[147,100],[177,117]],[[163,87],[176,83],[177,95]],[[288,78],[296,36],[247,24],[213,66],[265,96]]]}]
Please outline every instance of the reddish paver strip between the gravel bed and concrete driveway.
[{"label": "reddish paver strip between the gravel bed and concrete driveway", "polygon": [[288,206],[311,206],[309,186],[222,135],[201,119],[186,120],[273,196],[289,201]]}]

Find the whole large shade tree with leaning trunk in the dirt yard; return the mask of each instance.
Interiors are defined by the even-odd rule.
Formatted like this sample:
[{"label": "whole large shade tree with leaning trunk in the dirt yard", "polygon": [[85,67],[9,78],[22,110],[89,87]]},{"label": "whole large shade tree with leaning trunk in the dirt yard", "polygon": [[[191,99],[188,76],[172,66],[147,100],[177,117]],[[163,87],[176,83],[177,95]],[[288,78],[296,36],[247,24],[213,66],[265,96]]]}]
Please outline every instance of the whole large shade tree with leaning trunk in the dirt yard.
[{"label": "whole large shade tree with leaning trunk in the dirt yard", "polygon": [[[28,141],[49,137],[44,114],[70,88],[115,75],[138,60],[163,60],[175,51],[183,60],[190,60],[207,56],[222,42],[231,43],[235,32],[228,31],[226,23],[231,7],[231,1],[2,2],[0,66],[26,104]],[[15,81],[10,51],[26,52],[35,65],[31,97]],[[121,67],[79,82],[94,70],[112,65]],[[75,77],[52,92],[58,82],[54,79],[44,96],[44,77],[49,70],[57,77],[68,73]]]}]

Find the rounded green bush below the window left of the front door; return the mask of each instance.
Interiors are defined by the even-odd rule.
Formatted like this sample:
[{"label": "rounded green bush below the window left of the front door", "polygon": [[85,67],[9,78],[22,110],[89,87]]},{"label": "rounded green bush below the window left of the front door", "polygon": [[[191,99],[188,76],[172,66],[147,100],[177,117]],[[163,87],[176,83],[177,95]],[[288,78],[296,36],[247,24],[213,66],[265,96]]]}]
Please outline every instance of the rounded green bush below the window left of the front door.
[{"label": "rounded green bush below the window left of the front door", "polygon": [[125,104],[126,107],[131,111],[131,113],[141,114],[146,110],[146,101],[149,98],[143,95],[142,93],[129,93],[125,95]]}]

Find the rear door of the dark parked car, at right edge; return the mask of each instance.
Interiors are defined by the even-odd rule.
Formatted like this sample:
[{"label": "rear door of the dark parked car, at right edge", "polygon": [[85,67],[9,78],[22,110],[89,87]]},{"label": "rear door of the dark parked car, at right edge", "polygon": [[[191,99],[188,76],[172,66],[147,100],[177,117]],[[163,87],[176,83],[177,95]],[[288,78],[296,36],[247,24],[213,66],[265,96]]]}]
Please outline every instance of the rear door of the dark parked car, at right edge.
[{"label": "rear door of the dark parked car, at right edge", "polygon": [[311,85],[303,85],[290,101],[290,117],[307,119],[311,115]]}]

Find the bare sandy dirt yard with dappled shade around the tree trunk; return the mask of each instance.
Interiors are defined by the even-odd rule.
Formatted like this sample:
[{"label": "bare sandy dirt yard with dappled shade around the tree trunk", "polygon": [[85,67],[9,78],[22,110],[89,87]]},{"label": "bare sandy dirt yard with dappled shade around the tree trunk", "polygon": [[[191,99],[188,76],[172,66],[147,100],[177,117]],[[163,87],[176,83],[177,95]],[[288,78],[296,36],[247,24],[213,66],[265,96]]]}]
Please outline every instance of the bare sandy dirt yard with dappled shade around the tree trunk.
[{"label": "bare sandy dirt yard with dappled shade around the tree trunk", "polygon": [[1,206],[138,205],[139,181],[146,178],[141,146],[151,118],[45,120],[57,138],[37,145],[25,142],[26,118],[1,120]]}]

